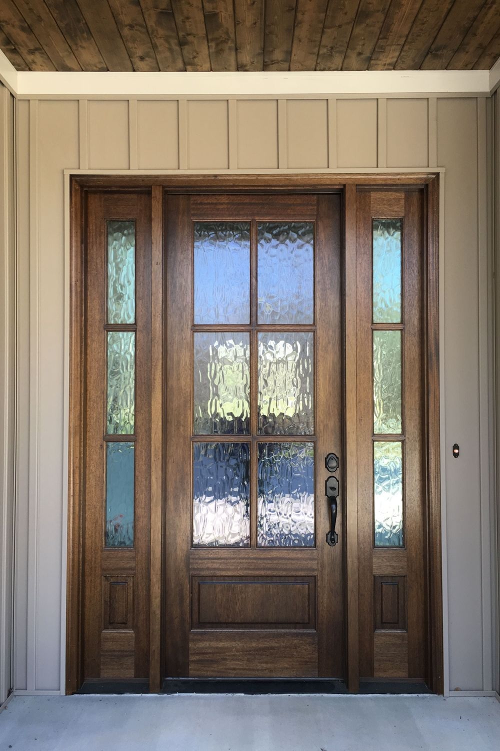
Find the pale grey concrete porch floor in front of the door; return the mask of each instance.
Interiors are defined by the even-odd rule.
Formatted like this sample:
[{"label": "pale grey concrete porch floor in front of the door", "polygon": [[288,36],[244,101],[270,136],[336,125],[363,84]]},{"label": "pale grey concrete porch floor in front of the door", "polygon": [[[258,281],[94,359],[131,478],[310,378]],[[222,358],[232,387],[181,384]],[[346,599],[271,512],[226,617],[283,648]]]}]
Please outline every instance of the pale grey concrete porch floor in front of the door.
[{"label": "pale grey concrete porch floor in front of the door", "polygon": [[16,696],[0,751],[391,751],[500,748],[496,698]]}]

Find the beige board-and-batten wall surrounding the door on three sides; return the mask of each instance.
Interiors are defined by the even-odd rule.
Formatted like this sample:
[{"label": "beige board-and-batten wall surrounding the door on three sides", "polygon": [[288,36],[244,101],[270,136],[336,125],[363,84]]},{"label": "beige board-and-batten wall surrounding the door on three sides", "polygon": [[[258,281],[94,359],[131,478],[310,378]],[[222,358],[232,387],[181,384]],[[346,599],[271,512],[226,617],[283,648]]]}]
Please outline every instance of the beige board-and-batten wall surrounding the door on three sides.
[{"label": "beige board-and-batten wall surrounding the door on three sides", "polygon": [[[64,687],[68,228],[63,170],[311,173],[410,167],[445,167],[445,685],[452,690],[493,688],[491,300],[484,221],[488,107],[485,98],[452,97],[17,102],[16,689]],[[460,460],[451,458],[454,442],[460,444]]]}]

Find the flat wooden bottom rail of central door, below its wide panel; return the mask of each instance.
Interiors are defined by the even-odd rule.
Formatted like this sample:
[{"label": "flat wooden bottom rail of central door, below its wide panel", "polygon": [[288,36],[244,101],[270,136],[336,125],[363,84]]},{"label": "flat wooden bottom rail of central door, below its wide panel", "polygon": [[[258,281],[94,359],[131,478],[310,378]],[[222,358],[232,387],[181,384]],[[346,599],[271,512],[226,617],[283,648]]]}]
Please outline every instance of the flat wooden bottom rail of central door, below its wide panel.
[{"label": "flat wooden bottom rail of central door, below its wide panel", "polygon": [[190,677],[317,677],[317,641],[304,632],[193,632]]}]

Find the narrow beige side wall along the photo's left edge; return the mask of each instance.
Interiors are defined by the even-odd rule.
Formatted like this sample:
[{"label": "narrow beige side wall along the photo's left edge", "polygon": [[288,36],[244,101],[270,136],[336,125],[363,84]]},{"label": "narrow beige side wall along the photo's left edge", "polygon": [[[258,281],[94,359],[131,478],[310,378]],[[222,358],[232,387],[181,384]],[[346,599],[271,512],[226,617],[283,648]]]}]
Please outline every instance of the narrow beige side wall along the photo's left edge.
[{"label": "narrow beige side wall along the photo's left edge", "polygon": [[14,101],[0,84],[0,704],[13,685]]}]

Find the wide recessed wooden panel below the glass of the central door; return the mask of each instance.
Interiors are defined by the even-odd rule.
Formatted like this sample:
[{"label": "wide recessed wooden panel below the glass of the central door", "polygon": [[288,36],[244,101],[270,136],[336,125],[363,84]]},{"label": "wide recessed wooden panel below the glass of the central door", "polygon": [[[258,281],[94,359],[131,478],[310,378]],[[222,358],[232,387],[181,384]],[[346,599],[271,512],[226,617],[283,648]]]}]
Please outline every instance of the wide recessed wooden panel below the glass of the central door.
[{"label": "wide recessed wooden panel below the glass of the central door", "polygon": [[193,629],[308,628],[316,623],[316,579],[194,577]]}]

